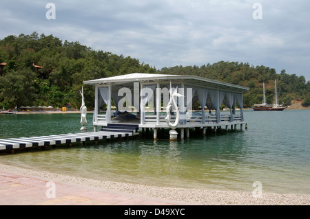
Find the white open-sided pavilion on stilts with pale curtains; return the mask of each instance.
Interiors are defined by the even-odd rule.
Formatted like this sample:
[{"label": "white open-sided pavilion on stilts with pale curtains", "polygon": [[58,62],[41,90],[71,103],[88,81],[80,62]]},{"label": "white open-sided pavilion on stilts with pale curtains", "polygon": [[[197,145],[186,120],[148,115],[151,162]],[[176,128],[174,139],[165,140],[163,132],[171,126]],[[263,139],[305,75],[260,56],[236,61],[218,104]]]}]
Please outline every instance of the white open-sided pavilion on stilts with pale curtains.
[{"label": "white open-sided pavilion on stilts with pale curtains", "polygon": [[[249,88],[198,76],[130,73],[84,81],[94,85],[93,126],[136,124],[138,128],[180,130],[180,138],[189,137],[189,128],[246,125],[242,93]],[[193,110],[199,102],[200,109]],[[106,111],[101,107],[106,104]],[[220,111],[225,104],[227,111]],[[236,106],[240,110],[236,111]],[[174,132],[175,133],[175,132]],[[170,137],[172,134],[170,135]],[[172,138],[172,137],[171,137]]]}]

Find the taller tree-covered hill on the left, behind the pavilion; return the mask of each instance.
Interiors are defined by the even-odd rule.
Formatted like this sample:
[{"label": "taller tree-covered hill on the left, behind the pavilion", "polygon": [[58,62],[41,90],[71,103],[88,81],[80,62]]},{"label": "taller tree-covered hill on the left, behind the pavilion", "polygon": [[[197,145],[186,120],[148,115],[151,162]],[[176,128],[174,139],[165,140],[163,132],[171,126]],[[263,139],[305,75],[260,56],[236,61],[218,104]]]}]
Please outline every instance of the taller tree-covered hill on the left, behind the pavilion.
[{"label": "taller tree-covered hill on the left, behind the pavilion", "polygon": [[34,32],[0,40],[0,107],[94,106],[94,87],[83,84],[125,73],[156,73],[154,67],[130,56],[94,51],[79,42],[62,42]]}]

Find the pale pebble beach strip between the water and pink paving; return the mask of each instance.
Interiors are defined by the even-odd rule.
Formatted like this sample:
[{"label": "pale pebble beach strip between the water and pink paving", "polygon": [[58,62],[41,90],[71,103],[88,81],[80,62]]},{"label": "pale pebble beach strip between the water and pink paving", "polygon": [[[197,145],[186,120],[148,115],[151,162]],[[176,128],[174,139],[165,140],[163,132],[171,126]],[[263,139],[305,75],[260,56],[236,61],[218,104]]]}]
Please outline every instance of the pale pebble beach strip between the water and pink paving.
[{"label": "pale pebble beach strip between the water and pink paving", "polygon": [[156,187],[113,181],[99,181],[90,178],[20,168],[2,163],[0,163],[0,172],[45,178],[48,181],[87,186],[94,189],[106,189],[113,192],[147,196],[149,198],[165,198],[167,200],[192,203],[193,205],[310,205],[310,194],[274,194],[262,190],[262,197],[254,198],[252,192]]}]

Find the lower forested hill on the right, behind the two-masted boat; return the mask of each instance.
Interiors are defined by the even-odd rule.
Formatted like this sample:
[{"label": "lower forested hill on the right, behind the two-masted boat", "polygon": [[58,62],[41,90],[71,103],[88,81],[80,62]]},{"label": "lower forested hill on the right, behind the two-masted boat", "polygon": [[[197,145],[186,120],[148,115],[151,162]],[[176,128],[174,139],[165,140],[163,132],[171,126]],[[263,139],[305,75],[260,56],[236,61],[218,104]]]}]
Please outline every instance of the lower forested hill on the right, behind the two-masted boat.
[{"label": "lower forested hill on the right, behind the two-masted boat", "polygon": [[194,75],[249,87],[250,90],[243,95],[245,107],[262,103],[262,82],[265,82],[267,103],[273,104],[275,96],[274,80],[276,80],[279,104],[291,105],[292,100],[297,100],[304,102],[304,106],[310,105],[310,82],[306,82],[304,76],[289,75],[284,69],[278,74],[275,69],[265,66],[254,67],[249,63],[220,61],[201,67],[163,68],[160,73]]}]

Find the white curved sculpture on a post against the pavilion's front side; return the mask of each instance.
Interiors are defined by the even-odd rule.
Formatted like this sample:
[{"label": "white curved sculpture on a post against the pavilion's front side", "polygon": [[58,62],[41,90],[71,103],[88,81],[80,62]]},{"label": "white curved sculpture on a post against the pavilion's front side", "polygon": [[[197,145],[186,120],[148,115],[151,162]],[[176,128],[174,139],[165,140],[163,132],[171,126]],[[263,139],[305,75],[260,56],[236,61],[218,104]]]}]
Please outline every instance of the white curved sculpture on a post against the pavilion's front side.
[{"label": "white curved sculpture on a post against the pavilion's front side", "polygon": [[[167,104],[167,109],[166,109],[167,117],[165,118],[168,126],[172,128],[172,130],[169,131],[170,140],[176,140],[178,136],[178,132],[176,132],[175,129],[178,126],[178,122],[180,120],[180,111],[178,110],[178,105],[176,104],[176,100],[174,97],[183,97],[183,95],[180,95],[179,93],[177,93],[177,90],[178,90],[178,87],[172,92],[172,86],[170,82],[170,100],[169,100],[169,103]],[[172,108],[172,104],[174,104],[174,108],[176,108],[176,120],[174,121],[174,124],[172,124],[170,121],[171,119],[170,110]]]}]

